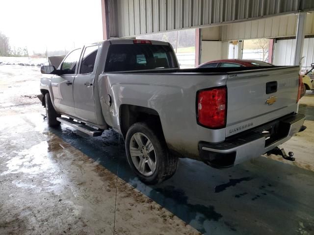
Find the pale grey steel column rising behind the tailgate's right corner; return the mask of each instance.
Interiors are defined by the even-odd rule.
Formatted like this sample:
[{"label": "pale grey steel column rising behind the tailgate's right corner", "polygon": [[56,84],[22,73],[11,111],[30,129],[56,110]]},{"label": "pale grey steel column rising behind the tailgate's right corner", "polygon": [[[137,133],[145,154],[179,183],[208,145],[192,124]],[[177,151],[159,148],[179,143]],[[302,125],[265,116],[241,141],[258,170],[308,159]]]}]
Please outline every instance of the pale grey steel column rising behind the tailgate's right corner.
[{"label": "pale grey steel column rising behind the tailgate's right corner", "polygon": [[303,52],[303,41],[305,34],[306,12],[298,13],[298,23],[296,28],[296,47],[294,56],[294,65],[299,65]]}]

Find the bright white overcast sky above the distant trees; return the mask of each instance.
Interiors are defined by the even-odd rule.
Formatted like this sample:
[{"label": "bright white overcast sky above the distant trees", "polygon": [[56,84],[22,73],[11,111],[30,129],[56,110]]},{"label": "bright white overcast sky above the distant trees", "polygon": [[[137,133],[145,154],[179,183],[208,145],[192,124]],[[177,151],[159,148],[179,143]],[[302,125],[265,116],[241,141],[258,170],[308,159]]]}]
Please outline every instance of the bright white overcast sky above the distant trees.
[{"label": "bright white overcast sky above the distant trees", "polygon": [[30,54],[101,41],[102,28],[101,0],[0,1],[0,32]]}]

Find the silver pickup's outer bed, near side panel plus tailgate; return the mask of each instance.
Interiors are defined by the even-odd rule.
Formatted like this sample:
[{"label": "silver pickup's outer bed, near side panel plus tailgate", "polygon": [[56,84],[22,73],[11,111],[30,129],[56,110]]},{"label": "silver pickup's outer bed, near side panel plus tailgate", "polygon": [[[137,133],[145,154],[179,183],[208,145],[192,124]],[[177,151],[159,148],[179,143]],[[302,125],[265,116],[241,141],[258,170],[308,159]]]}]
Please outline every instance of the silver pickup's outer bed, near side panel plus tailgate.
[{"label": "silver pickup's outer bed, near side panel plus tailgate", "polygon": [[[108,94],[101,87],[110,88],[110,95],[119,97],[115,99],[115,106],[110,107],[114,117],[119,117],[117,107],[122,104],[155,110],[170,148],[197,157],[198,141],[219,143],[227,137],[296,112],[298,71],[297,66],[277,66],[110,72],[100,75],[99,89],[101,99],[105,100]],[[277,81],[278,91],[266,94],[266,83],[273,81]],[[197,92],[224,86],[228,98],[226,126],[209,129],[199,125]],[[278,101],[265,105],[266,99],[272,95],[278,96]],[[106,104],[102,105],[103,110],[108,109]],[[116,118],[109,120],[108,124],[119,126]]]}]

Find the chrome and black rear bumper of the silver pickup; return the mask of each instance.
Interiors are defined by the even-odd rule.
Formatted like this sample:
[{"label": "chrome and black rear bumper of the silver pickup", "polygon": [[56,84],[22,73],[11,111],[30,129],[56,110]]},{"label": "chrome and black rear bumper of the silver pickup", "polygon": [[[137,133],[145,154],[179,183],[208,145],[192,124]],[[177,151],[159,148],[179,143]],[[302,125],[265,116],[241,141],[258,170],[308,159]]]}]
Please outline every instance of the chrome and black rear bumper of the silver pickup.
[{"label": "chrome and black rear bumper of the silver pickup", "polygon": [[[279,144],[288,141],[300,131],[304,120],[303,114],[293,114],[266,123],[249,132],[235,135],[219,144],[199,142],[200,157],[202,161],[216,168],[226,168],[239,164],[261,156]],[[262,131],[275,126],[277,128],[276,133],[266,140]]]}]

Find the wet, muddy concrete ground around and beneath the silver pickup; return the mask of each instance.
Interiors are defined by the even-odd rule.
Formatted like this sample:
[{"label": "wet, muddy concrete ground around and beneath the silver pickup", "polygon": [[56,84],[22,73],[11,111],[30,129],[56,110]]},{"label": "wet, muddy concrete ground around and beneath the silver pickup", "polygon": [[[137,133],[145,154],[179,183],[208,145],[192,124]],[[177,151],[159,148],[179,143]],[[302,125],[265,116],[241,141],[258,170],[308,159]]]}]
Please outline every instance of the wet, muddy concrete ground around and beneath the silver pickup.
[{"label": "wet, muddy concrete ground around and beneath the silver pickup", "polygon": [[23,68],[29,76],[19,77],[19,67],[4,67],[0,235],[314,234],[314,94],[301,99],[308,129],[284,144],[295,162],[261,156],[217,170],[181,159],[174,177],[146,186],[119,135],[49,128],[31,98],[39,70]]}]

